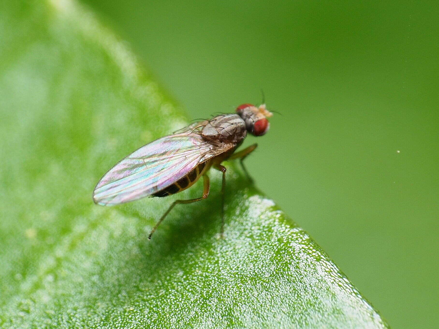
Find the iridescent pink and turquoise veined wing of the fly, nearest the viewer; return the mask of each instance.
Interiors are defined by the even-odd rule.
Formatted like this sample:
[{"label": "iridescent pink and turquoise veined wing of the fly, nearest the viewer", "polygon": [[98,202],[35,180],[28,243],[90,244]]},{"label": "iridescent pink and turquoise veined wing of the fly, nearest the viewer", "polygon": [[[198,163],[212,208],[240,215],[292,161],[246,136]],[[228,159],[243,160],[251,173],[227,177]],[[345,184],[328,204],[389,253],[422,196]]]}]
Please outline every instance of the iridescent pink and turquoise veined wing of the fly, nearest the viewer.
[{"label": "iridescent pink and turquoise veined wing of the fly, nearest the viewer", "polygon": [[228,149],[188,132],[162,137],[111,168],[97,183],[93,200],[114,205],[154,194],[187,175],[201,159],[205,161]]}]

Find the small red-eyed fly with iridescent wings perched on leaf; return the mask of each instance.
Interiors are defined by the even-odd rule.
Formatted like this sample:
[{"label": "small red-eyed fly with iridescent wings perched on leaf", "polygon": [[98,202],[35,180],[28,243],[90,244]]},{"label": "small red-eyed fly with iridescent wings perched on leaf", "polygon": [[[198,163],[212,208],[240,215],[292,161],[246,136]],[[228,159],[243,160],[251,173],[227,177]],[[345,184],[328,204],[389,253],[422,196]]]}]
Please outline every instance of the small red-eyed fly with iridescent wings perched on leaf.
[{"label": "small red-eyed fly with iridescent wings perched on leaf", "polygon": [[221,189],[221,237],[224,232],[224,189],[226,167],[224,160],[240,159],[245,174],[249,177],[243,160],[255,148],[253,144],[234,153],[247,136],[264,135],[270,124],[267,118],[272,113],[265,104],[255,107],[242,104],[236,114],[219,114],[211,120],[200,120],[187,127],[146,144],[111,168],[97,183],[93,192],[95,204],[112,206],[143,197],[167,197],[194,185],[203,177],[204,188],[201,197],[176,200],[163,214],[148,239],[176,204],[190,204],[209,196],[209,176],[211,167],[223,173]]}]

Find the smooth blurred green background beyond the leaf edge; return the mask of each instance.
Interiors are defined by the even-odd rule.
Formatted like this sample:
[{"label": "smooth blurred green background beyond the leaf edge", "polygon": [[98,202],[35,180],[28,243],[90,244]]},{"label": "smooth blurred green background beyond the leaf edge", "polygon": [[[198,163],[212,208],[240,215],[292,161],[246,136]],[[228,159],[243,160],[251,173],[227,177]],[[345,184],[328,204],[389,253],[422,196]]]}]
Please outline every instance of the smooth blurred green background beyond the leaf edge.
[{"label": "smooth blurred green background beyond the leaf edge", "polygon": [[191,118],[263,89],[282,115],[246,141],[257,186],[393,328],[437,325],[437,2],[83,3]]}]

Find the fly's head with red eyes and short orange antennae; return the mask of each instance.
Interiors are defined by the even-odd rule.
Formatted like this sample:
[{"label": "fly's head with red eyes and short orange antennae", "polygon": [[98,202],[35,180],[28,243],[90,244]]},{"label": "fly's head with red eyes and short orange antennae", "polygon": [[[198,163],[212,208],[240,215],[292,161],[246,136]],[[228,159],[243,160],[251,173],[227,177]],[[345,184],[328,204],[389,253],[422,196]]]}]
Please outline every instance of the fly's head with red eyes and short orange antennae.
[{"label": "fly's head with red eyes and short orange antennae", "polygon": [[244,120],[245,129],[254,136],[262,136],[270,128],[267,118],[270,118],[273,113],[266,109],[265,104],[259,107],[242,104],[236,108],[236,113]]}]

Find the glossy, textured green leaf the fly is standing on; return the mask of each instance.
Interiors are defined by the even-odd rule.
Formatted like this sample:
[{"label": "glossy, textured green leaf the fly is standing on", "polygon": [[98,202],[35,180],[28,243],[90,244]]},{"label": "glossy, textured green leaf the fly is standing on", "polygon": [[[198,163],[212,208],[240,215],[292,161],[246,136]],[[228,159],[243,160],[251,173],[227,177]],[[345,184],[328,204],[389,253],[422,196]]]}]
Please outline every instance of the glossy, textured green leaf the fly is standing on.
[{"label": "glossy, textured green leaf the fly is standing on", "polygon": [[151,241],[176,196],[94,205],[101,175],[184,112],[76,3],[5,1],[0,40],[2,328],[386,327],[234,164],[224,240],[218,172]]}]

